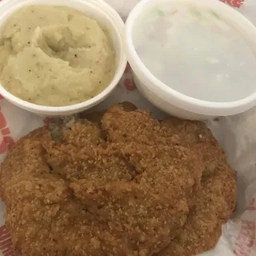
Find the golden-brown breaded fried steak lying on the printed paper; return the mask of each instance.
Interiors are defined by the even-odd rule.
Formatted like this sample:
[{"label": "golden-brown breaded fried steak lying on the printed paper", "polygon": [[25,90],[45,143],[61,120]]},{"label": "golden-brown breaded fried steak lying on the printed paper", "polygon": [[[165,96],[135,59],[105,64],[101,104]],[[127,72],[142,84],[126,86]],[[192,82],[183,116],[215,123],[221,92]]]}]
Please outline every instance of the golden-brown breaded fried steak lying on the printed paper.
[{"label": "golden-brown breaded fried steak lying on the printed paper", "polygon": [[236,202],[234,170],[202,122],[127,104],[21,138],[0,191],[25,256],[191,256],[218,242]]}]

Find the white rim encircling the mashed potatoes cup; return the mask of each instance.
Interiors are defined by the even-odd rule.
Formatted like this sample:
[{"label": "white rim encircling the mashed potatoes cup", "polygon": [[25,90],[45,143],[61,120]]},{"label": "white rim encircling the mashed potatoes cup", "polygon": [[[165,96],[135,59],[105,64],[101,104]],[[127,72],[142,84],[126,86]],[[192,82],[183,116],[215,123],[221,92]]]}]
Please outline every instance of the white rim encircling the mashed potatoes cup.
[{"label": "white rim encircling the mashed potatoes cup", "polygon": [[[36,4],[36,2],[38,2],[38,4],[41,4],[42,1],[40,1],[40,0],[33,1],[32,0],[31,2],[33,2],[35,4]],[[9,5],[10,7],[9,8],[6,7],[6,8],[8,8],[8,10],[10,10],[10,12],[11,12],[11,10],[18,9],[21,6],[30,5],[31,2],[30,1],[18,2],[17,6],[10,6],[9,1],[2,1],[0,3],[0,6],[2,6],[2,8],[5,8],[5,6],[3,6],[3,5]],[[31,110],[32,112],[35,112],[35,113],[42,112],[44,114],[50,114],[52,112],[54,112],[54,113],[58,112],[59,114],[62,114],[62,113],[65,114],[66,112],[75,112],[75,110],[81,110],[81,109],[86,109],[86,108],[88,109],[88,108],[90,108],[90,106],[95,106],[99,102],[104,100],[107,97],[107,95],[109,95],[114,90],[114,88],[118,85],[119,80],[122,78],[122,74],[124,73],[124,71],[126,69],[126,64],[127,64],[125,50],[124,50],[124,47],[122,46],[123,45],[122,44],[122,33],[118,33],[118,30],[120,30],[120,32],[121,32],[121,30],[124,30],[125,25],[124,25],[124,22],[122,21],[122,18],[119,16],[117,11],[114,10],[114,8],[112,6],[110,6],[107,2],[105,2],[103,0],[97,0],[97,1],[69,0],[69,2],[76,2],[76,3],[84,5],[84,6],[93,5],[94,7],[100,7],[101,9],[99,11],[104,13],[107,18],[112,19],[112,20],[113,20],[113,18],[115,19],[116,26],[112,26],[112,27],[114,28],[114,34],[118,39],[117,40],[118,44],[119,44],[119,46],[121,46],[121,53],[120,53],[120,57],[117,58],[117,66],[116,66],[114,78],[109,83],[109,85],[106,87],[106,89],[102,90],[102,92],[100,94],[97,94],[96,96],[94,96],[94,98],[90,98],[89,100],[86,100],[84,102],[80,102],[80,103],[77,103],[74,105],[68,105],[68,106],[43,106],[43,105],[31,103],[31,102],[26,102],[25,100],[22,100],[21,98],[14,96],[14,94],[11,94],[0,83],[0,94],[2,94],[2,97],[6,98],[6,100],[8,100],[10,102],[13,102],[16,106],[20,106],[26,110]],[[46,5],[49,5],[49,4],[54,5],[54,3],[51,4],[50,1],[46,2]],[[63,5],[65,6],[65,2],[63,3]],[[72,8],[72,4],[70,4],[70,7]]]}]

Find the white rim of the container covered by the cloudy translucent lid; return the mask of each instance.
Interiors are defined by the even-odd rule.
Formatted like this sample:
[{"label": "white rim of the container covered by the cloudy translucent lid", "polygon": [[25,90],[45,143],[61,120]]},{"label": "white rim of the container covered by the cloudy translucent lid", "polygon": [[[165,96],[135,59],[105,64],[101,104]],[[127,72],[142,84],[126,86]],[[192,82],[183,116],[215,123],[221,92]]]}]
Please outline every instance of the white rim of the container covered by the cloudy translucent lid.
[{"label": "white rim of the container covered by the cloudy translucent lid", "polygon": [[[246,26],[246,29],[250,30],[250,36],[254,40],[256,44],[256,27],[242,14],[240,14],[237,10],[234,10],[232,7],[227,6],[225,3],[217,1],[217,0],[164,0],[165,2],[193,2],[202,4],[204,6],[214,6],[214,8],[218,8],[218,10],[222,10],[226,14],[230,14],[242,23],[242,26]],[[138,2],[134,9],[131,10],[127,20],[125,27],[125,42],[126,42],[126,54],[128,58],[128,62],[130,63],[131,68],[134,71],[134,74],[138,76],[139,79],[142,80],[146,84],[146,86],[154,88],[155,90],[162,90],[163,96],[172,101],[172,104],[181,107],[184,110],[189,110],[199,114],[206,115],[229,115],[229,114],[238,114],[245,110],[249,110],[251,107],[255,106],[256,103],[256,86],[255,92],[250,94],[246,98],[241,98],[232,102],[209,102],[200,100],[197,98],[192,98],[187,96],[186,94],[182,94],[177,90],[166,86],[165,83],[161,82],[158,78],[154,76],[146,68],[142,60],[138,57],[136,50],[134,49],[134,43],[132,40],[132,30],[135,26],[137,18],[143,13],[143,10],[146,10],[146,6],[150,6],[151,4],[159,2],[158,0],[141,0]],[[226,15],[229,17],[229,15]],[[162,98],[161,97],[161,98]]]}]

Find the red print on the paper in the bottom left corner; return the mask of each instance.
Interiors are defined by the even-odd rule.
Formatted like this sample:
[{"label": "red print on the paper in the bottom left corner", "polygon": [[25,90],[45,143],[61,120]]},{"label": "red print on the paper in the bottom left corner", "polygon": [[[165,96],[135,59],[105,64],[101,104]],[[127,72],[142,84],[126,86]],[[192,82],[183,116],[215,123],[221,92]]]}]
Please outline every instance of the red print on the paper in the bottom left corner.
[{"label": "red print on the paper in the bottom left corner", "polygon": [[0,251],[3,256],[18,256],[18,252],[14,250],[10,232],[6,225],[0,226]]}]

